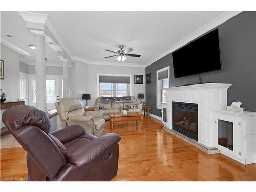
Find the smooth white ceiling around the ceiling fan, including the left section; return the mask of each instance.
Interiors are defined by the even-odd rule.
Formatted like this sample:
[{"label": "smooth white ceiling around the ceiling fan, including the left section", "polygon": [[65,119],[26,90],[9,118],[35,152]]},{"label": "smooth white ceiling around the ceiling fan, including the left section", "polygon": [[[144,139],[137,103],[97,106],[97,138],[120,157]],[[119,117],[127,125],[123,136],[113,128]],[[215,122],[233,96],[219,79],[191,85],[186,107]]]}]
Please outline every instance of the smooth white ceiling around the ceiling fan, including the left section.
[{"label": "smooth white ceiling around the ceiling fan, including the left section", "polygon": [[[80,57],[99,63],[117,62],[116,57],[104,49],[117,51],[131,47],[131,54],[141,54],[140,58],[127,57],[125,62],[145,63],[159,56],[179,41],[199,30],[222,11],[168,11],[168,12],[37,12],[49,15],[48,19],[58,36],[65,41],[70,57]],[[6,34],[13,37],[9,38]],[[26,28],[24,20],[16,12],[1,12],[1,38],[34,56],[28,48],[35,44],[33,34]],[[51,62],[61,62],[48,45],[46,57]],[[28,58],[28,60],[33,60]]]}]

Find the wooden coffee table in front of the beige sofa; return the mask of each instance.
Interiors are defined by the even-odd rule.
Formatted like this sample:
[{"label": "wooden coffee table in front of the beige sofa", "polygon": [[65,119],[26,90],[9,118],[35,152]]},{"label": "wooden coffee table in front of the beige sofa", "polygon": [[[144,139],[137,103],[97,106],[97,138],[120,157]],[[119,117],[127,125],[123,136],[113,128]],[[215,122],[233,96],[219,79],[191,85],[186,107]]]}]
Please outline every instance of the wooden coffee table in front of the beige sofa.
[{"label": "wooden coffee table in front of the beige sofa", "polygon": [[114,121],[132,121],[132,120],[140,120],[141,126],[143,125],[143,114],[136,112],[136,113],[127,113],[124,115],[122,113],[110,113],[110,122],[111,128],[113,129],[113,122]]}]

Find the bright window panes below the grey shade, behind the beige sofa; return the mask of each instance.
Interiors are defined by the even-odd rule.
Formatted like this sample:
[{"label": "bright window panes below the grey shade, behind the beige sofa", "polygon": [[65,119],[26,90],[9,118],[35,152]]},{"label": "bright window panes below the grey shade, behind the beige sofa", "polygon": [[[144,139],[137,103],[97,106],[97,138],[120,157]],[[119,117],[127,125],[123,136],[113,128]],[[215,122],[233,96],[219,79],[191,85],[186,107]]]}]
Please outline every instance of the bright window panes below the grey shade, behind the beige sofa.
[{"label": "bright window panes below the grey shade, behind the beige sofa", "polygon": [[102,97],[124,97],[129,96],[128,83],[106,83],[100,82],[100,96]]}]

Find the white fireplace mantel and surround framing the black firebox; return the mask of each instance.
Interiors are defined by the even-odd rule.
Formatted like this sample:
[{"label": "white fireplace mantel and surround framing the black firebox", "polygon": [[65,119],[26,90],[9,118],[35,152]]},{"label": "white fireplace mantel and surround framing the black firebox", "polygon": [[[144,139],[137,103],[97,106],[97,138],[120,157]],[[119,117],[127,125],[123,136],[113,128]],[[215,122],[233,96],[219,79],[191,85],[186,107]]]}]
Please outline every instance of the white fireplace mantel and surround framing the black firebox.
[{"label": "white fireplace mantel and surround framing the black firebox", "polygon": [[232,84],[203,83],[166,88],[167,129],[172,129],[172,102],[198,104],[198,142],[214,147],[213,110],[225,110],[227,89]]}]

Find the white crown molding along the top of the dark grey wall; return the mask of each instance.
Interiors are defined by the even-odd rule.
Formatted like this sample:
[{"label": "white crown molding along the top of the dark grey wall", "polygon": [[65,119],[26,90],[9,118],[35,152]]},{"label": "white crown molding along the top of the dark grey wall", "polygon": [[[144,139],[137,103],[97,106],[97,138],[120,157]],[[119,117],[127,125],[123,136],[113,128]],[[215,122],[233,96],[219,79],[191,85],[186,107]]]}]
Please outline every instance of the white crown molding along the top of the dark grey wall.
[{"label": "white crown molding along the top of the dark grey wall", "polygon": [[169,49],[165,50],[164,52],[160,53],[156,57],[149,60],[145,67],[151,65],[153,62],[156,62],[157,60],[161,59],[162,57],[168,55],[169,53],[174,52],[175,50],[179,49],[180,47],[186,45],[188,42],[198,38],[199,36],[203,35],[204,33],[210,31],[211,29],[214,29],[215,27],[221,25],[222,23],[226,22],[228,19],[238,15],[242,11],[226,11],[219,16],[215,17],[214,19],[210,20],[207,24],[202,26],[201,28],[197,29],[193,33],[187,35],[185,38],[178,41],[175,45],[170,47]]}]

